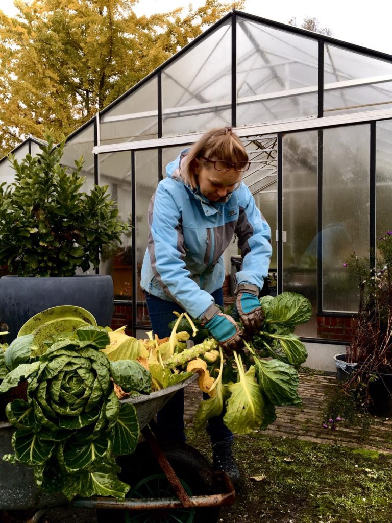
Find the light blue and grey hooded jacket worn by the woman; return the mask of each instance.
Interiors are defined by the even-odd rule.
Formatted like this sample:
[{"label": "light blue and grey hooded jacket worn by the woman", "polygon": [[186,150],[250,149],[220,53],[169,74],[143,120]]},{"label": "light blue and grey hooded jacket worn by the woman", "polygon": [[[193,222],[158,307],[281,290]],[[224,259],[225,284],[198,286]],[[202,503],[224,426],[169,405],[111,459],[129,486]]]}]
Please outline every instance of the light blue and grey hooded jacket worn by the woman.
[{"label": "light blue and grey hooded jacket worn by the woman", "polygon": [[238,237],[243,266],[237,283],[260,289],[271,257],[271,231],[244,183],[224,203],[211,202],[183,179],[182,151],[166,167],[148,208],[149,235],[141,286],[148,293],[175,301],[193,317],[201,317],[222,287],[222,254]]}]

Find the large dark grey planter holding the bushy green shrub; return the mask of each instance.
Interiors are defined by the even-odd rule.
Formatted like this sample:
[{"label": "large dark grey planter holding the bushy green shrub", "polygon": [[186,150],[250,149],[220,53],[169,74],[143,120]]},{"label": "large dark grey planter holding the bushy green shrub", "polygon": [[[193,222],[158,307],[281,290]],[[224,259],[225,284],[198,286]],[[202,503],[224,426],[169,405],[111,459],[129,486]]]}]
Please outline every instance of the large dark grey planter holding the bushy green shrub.
[{"label": "large dark grey planter holding the bushy green shrub", "polygon": [[57,305],[83,307],[95,316],[99,326],[110,326],[113,280],[107,275],[0,278],[0,321],[9,327],[7,343],[16,338],[31,316]]}]

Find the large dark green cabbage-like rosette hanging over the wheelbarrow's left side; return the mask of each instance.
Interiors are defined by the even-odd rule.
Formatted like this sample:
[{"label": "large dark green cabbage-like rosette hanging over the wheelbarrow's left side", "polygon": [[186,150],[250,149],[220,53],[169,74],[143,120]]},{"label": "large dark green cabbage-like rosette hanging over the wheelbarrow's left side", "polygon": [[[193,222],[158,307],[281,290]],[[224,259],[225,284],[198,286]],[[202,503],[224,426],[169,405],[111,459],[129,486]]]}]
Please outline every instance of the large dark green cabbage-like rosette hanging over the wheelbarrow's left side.
[{"label": "large dark green cabbage-like rosette hanging over the wheelbarrow's left side", "polygon": [[148,394],[151,376],[139,362],[109,361],[100,351],[109,341],[101,327],[80,327],[76,335],[52,343],[36,361],[25,354],[27,362],[0,384],[0,392],[6,392],[28,379],[27,400],[6,407],[16,428],[15,453],[3,459],[33,467],[35,481],[47,492],[62,492],[68,499],[120,499],[129,490],[117,477],[116,456],[134,451],[139,423],[135,407],[120,404],[113,380],[125,391]]}]

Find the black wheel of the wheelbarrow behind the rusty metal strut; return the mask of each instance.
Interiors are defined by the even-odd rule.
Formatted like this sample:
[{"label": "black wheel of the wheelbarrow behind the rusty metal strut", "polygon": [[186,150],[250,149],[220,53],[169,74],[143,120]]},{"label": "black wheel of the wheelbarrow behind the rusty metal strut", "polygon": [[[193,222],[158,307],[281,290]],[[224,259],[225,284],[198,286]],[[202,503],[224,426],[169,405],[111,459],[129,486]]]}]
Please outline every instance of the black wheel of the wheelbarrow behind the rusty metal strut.
[{"label": "black wheel of the wheelbarrow behind the rusty metal strut", "polygon": [[[216,494],[219,487],[207,460],[189,445],[162,445],[171,467],[189,496]],[[119,460],[119,477],[131,485],[126,497],[176,497],[166,475],[144,443]],[[216,523],[220,507],[157,510],[97,510],[98,523]]]}]

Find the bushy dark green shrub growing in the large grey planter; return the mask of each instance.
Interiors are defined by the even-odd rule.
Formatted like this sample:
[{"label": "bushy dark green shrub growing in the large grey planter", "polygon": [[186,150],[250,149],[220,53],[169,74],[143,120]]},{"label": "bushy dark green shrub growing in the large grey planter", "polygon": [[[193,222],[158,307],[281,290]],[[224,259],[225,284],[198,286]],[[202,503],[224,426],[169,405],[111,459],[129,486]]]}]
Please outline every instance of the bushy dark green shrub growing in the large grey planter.
[{"label": "bushy dark green shrub growing in the large grey planter", "polygon": [[83,192],[83,158],[61,164],[65,141],[51,133],[41,152],[20,163],[11,156],[15,181],[0,185],[0,266],[19,276],[73,276],[98,267],[103,249],[121,243],[130,225],[118,218],[108,186]]}]

